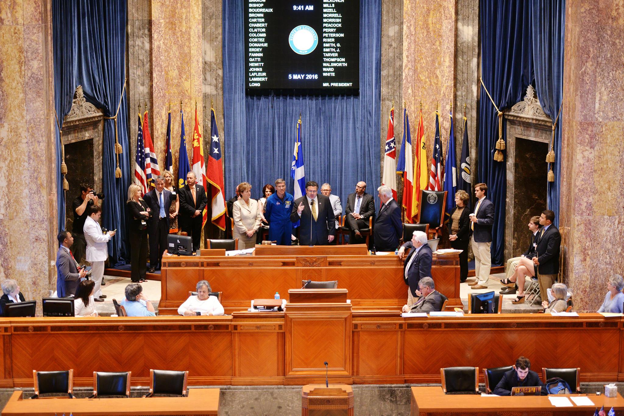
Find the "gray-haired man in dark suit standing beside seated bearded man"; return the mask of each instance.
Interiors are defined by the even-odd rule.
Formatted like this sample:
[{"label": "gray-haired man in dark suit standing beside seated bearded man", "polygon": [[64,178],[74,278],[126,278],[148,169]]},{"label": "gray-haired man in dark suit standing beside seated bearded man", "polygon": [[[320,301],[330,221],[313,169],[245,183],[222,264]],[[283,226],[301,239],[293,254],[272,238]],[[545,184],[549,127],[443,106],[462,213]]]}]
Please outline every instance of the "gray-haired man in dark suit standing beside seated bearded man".
[{"label": "gray-haired man in dark suit standing beside seated bearded man", "polygon": [[381,200],[381,208],[379,208],[373,228],[375,251],[394,251],[399,246],[399,239],[403,232],[401,207],[392,198],[390,186],[381,185],[377,191]]}]

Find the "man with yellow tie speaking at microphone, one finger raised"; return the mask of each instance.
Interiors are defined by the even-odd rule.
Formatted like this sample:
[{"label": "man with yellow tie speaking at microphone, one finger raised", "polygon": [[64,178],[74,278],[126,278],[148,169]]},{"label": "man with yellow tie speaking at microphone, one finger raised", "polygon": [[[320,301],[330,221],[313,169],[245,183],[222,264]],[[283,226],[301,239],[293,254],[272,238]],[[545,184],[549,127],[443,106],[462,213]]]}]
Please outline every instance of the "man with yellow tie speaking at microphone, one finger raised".
[{"label": "man with yellow tie speaking at microphone, one finger raised", "polygon": [[306,183],[306,195],[293,204],[290,221],[300,221],[299,241],[302,246],[329,244],[336,235],[336,219],[329,198],[318,193],[318,183]]}]

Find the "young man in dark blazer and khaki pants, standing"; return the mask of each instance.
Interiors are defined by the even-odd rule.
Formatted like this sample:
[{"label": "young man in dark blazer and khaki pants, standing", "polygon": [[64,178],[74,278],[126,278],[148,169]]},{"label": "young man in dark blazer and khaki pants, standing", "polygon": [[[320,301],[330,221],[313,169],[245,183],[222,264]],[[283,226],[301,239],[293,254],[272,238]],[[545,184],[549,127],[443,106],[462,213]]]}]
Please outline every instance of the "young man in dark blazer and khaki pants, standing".
[{"label": "young man in dark blazer and khaki pants, standing", "polygon": [[477,205],[474,213],[470,214],[470,244],[474,253],[474,272],[477,281],[469,283],[472,289],[487,289],[487,281],[490,278],[492,266],[492,224],[494,224],[494,204],[485,198],[487,185],[477,183],[474,186],[474,195],[477,196]]}]

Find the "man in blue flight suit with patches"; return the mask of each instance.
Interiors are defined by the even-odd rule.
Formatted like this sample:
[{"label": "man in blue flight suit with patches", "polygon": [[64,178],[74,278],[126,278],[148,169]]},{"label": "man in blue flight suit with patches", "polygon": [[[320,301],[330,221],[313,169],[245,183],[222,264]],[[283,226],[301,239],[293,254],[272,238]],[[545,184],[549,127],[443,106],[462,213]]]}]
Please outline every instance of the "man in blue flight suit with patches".
[{"label": "man in blue flight suit with patches", "polygon": [[293,223],[290,221],[295,198],[286,192],[286,181],[275,181],[275,193],[266,198],[265,218],[269,223],[269,239],[278,245],[292,244]]}]

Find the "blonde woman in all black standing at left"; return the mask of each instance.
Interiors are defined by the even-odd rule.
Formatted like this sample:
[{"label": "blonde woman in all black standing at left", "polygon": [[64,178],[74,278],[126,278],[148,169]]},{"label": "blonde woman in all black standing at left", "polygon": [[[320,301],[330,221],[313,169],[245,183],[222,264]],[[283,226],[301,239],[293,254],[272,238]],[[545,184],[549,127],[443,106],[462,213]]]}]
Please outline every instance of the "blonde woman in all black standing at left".
[{"label": "blonde woman in all black standing at left", "polygon": [[141,199],[141,187],[136,183],[128,188],[126,201],[130,215],[130,279],[134,283],[143,283],[147,272],[147,220],[152,213],[144,200]]}]

